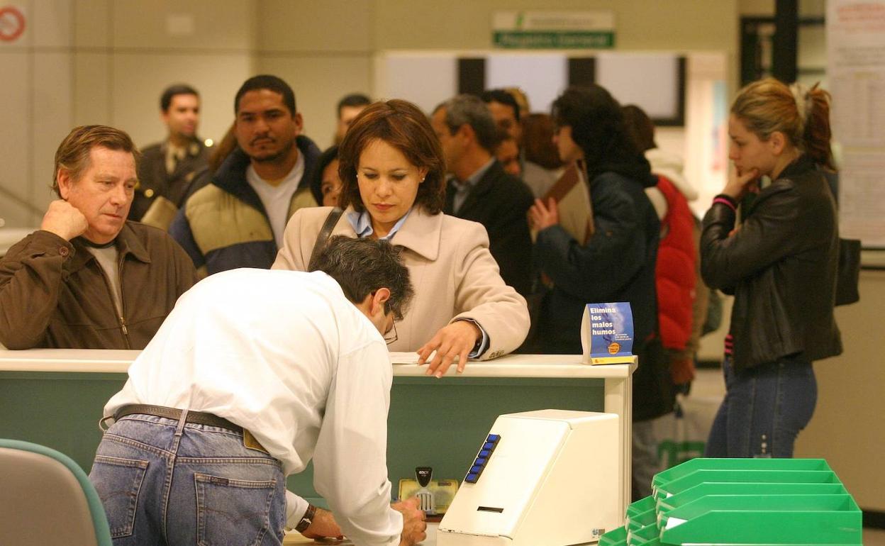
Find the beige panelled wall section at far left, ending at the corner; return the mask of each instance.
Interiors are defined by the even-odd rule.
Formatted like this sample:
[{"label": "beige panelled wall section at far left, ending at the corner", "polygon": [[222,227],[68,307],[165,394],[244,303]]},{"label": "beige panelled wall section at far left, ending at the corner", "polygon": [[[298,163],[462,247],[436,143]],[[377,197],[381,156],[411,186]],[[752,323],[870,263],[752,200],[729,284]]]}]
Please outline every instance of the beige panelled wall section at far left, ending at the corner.
[{"label": "beige panelled wall section at far left, ending at the corner", "polygon": [[[140,146],[158,141],[165,136],[159,95],[187,81],[203,92],[201,134],[218,138],[252,71],[257,18],[248,0],[12,5],[27,26],[18,41],[0,42],[0,219],[7,226],[39,225],[53,198],[55,150],[72,127],[109,124]],[[185,32],[177,34],[182,21]]]}]

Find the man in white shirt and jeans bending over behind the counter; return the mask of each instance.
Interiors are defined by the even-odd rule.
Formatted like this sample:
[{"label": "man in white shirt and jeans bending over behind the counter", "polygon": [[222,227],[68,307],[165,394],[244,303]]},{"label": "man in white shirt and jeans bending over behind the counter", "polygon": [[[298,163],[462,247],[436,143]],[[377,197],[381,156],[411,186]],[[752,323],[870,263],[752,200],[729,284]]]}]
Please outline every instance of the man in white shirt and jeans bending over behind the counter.
[{"label": "man in white shirt and jeans bending over behind the counter", "polygon": [[[409,270],[389,242],[343,236],[309,269],[208,277],[130,366],[89,474],[114,544],[281,544],[287,525],[366,546],[425,538],[387,474],[385,338]],[[311,458],[338,524],[286,491]]]}]

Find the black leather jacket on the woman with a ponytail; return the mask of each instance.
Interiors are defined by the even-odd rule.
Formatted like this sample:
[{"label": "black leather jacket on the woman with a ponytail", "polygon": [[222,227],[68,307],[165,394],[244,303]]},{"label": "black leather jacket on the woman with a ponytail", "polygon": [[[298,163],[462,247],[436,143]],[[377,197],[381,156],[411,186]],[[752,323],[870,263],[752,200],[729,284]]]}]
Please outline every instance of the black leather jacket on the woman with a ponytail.
[{"label": "black leather jacket on the woman with a ponytail", "polygon": [[812,160],[798,158],[759,192],[735,228],[735,211],[713,204],[704,216],[701,273],[734,292],[729,333],[735,371],[842,352],[833,316],[839,235],[835,201]]}]

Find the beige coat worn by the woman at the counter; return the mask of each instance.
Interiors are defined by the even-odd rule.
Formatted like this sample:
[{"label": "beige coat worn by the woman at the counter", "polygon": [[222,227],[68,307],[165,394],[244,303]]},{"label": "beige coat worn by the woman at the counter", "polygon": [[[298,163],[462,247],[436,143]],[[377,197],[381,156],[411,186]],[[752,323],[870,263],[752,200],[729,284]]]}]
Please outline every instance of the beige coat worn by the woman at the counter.
[{"label": "beige coat worn by the woman at the counter", "polygon": [[[307,270],[330,211],[332,207],[296,211],[286,226],[273,269]],[[350,211],[344,211],[332,235],[357,236],[347,219]],[[489,335],[489,349],[481,360],[512,352],[525,340],[526,300],[501,279],[489,253],[489,235],[481,224],[415,207],[390,242],[404,247],[404,263],[415,288],[412,304],[396,324],[398,339],[390,350],[418,350],[454,319],[473,319]],[[527,256],[527,267],[530,260]]]}]

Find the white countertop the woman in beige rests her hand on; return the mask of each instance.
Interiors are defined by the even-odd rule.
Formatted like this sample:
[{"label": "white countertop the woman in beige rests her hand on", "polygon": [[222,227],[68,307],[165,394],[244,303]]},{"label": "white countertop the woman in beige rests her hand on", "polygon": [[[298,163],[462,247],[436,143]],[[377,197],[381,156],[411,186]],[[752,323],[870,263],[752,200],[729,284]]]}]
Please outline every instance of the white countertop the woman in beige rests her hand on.
[{"label": "white countertop the woman in beige rests her hand on", "polygon": [[[31,349],[0,350],[0,372],[126,373],[138,350]],[[397,377],[421,377],[426,365],[415,364],[414,353],[390,353]],[[620,362],[620,361],[619,361]],[[635,357],[620,364],[585,365],[581,355],[507,355],[471,361],[461,377],[618,378],[630,374]],[[456,375],[451,366],[447,375]]]}]

